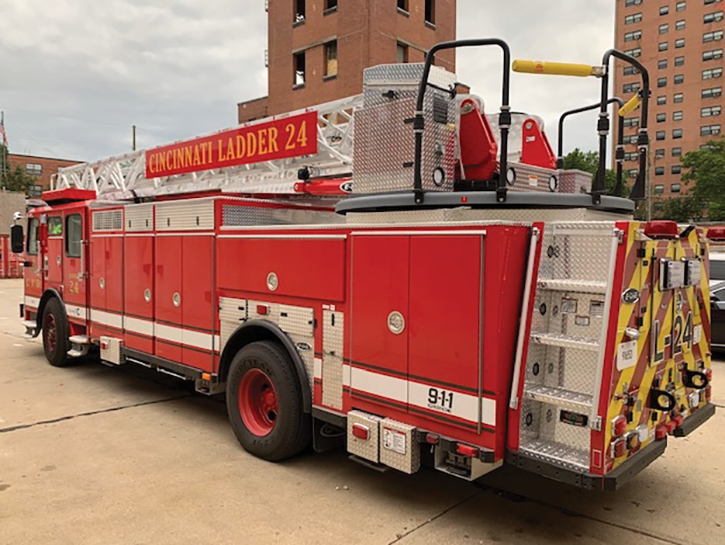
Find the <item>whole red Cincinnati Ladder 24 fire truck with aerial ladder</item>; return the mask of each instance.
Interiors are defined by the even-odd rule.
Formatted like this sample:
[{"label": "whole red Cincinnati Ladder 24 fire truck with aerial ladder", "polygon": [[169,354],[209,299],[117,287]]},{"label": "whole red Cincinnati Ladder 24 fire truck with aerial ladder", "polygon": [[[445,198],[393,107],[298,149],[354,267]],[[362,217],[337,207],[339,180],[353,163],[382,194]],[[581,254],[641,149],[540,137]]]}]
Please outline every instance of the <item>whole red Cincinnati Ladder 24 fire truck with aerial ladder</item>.
[{"label": "whole red Cincinnati Ladder 24 fire truck with aerial ladder", "polygon": [[[469,46],[503,54],[496,115],[433,66]],[[28,334],[55,366],[98,351],[225,393],[267,460],[312,443],[616,489],[714,405],[708,239],[633,220],[621,141],[605,187],[615,58],[642,78],[617,114],[641,106],[641,200],[636,59],[512,65],[500,40],[447,42],[366,70],[359,96],[62,169],[16,248]],[[596,176],[511,110],[512,69],[601,80]]]}]

